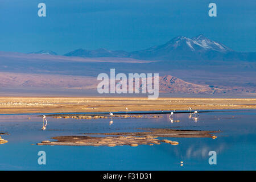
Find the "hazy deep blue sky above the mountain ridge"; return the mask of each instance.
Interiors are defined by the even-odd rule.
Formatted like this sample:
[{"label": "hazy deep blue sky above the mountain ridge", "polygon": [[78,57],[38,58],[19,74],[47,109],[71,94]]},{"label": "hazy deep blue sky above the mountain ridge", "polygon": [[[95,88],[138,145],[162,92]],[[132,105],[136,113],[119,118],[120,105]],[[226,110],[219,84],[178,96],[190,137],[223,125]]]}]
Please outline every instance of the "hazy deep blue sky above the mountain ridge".
[{"label": "hazy deep blue sky above the mountain ridge", "polygon": [[[38,16],[40,2],[46,17]],[[210,2],[217,17],[208,16]],[[236,51],[256,51],[255,19],[251,0],[0,0],[0,51],[135,51],[199,34]]]}]

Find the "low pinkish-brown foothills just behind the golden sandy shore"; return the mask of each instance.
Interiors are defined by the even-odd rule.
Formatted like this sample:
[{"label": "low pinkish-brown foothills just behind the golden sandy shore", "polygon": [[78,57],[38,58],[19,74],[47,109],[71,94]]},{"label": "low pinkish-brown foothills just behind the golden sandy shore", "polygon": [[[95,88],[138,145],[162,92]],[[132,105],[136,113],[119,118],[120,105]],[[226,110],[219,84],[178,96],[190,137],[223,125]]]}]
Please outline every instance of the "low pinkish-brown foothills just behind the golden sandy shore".
[{"label": "low pinkish-brown foothills just behind the golden sandy shore", "polygon": [[[67,75],[42,75],[31,73],[10,73],[0,72],[1,88],[41,88],[48,89],[66,89],[66,90],[93,90],[97,93],[96,77],[87,76],[67,76]],[[127,81],[128,82],[128,81]],[[153,81],[154,84],[154,81]],[[142,86],[142,85],[140,85]],[[153,85],[154,86],[154,85]],[[255,87],[230,87],[230,86],[212,86],[205,84],[193,84],[181,80],[171,75],[159,77],[159,92],[172,94],[245,94],[255,93]]]}]

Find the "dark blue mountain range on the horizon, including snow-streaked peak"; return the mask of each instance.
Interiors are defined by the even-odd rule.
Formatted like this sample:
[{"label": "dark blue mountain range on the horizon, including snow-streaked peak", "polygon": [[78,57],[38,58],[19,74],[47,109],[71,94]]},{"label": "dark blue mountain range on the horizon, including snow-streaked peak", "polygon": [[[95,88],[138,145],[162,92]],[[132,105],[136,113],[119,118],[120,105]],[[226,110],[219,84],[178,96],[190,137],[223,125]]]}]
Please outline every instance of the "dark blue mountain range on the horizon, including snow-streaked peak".
[{"label": "dark blue mountain range on the horizon, including snow-streaked peak", "polygon": [[[57,55],[53,51],[38,51],[30,53]],[[141,51],[111,51],[105,48],[96,50],[76,49],[65,53],[73,57],[128,57],[139,60],[224,60],[224,61],[255,61],[256,52],[237,52],[224,44],[215,42],[199,35],[193,38],[177,36],[167,43],[150,47]]]}]

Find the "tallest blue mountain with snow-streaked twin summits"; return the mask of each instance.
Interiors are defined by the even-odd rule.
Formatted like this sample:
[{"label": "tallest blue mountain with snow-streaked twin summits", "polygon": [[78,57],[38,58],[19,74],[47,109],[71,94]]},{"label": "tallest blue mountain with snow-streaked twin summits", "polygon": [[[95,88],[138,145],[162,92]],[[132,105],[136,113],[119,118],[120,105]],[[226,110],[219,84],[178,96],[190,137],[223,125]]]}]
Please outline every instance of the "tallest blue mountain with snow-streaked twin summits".
[{"label": "tallest blue mountain with snow-streaked twin summits", "polygon": [[177,36],[161,46],[131,52],[130,56],[157,60],[212,60],[222,59],[229,52],[233,52],[232,49],[199,35],[194,38]]}]

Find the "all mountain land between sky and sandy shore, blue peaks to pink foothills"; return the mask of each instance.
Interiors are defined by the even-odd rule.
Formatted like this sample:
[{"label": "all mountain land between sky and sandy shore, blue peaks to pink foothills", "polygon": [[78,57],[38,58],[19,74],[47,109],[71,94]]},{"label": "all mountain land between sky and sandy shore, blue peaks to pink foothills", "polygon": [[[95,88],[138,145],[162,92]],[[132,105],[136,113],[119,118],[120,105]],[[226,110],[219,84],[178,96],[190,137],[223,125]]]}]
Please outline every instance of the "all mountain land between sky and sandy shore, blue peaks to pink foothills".
[{"label": "all mountain land between sky and sandy shore, blue peaks to pink foothills", "polygon": [[12,91],[93,90],[97,75],[115,68],[116,73],[159,73],[161,93],[251,97],[256,96],[255,58],[255,52],[236,52],[203,35],[177,36],[161,46],[134,52],[77,49],[61,56],[46,50],[0,51],[0,86]]}]

